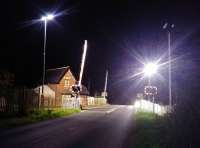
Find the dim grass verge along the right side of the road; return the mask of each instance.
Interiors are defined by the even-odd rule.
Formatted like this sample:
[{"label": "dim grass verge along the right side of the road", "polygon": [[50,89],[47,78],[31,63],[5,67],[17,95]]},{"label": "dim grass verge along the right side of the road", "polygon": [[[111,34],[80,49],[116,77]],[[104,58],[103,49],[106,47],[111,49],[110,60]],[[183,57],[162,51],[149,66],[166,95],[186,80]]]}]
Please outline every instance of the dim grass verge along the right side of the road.
[{"label": "dim grass verge along the right side of the road", "polygon": [[163,147],[166,132],[164,117],[149,112],[136,112],[129,138],[129,146],[135,148]]}]

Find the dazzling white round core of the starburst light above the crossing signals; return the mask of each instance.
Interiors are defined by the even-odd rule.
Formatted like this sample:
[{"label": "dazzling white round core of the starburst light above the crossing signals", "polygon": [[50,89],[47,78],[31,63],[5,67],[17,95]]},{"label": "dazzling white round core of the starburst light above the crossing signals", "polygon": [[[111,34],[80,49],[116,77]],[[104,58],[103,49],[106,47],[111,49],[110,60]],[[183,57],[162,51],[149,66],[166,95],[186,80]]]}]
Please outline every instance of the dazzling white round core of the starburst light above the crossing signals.
[{"label": "dazzling white round core of the starburst light above the crossing signals", "polygon": [[153,74],[157,73],[158,71],[158,65],[154,63],[148,63],[145,65],[143,73],[149,77],[151,77]]}]

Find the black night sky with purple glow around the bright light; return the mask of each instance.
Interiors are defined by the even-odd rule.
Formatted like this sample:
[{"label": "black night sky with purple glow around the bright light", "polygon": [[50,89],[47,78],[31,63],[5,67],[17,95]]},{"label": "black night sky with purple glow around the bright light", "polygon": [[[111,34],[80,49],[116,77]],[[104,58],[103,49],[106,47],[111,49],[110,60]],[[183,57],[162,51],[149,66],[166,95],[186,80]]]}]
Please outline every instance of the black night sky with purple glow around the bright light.
[{"label": "black night sky with purple glow around the bright light", "polygon": [[[197,1],[170,0],[20,0],[1,1],[0,68],[16,75],[21,85],[37,84],[42,74],[43,26],[33,23],[45,12],[66,13],[47,28],[47,68],[71,66],[77,76],[82,45],[89,43],[84,84],[101,91],[109,70],[109,95],[113,102],[131,101],[146,83],[129,78],[142,66],[136,60],[155,60],[167,52],[162,25],[172,31],[174,87],[199,72],[200,5]],[[166,56],[162,62],[166,60]],[[183,66],[186,65],[186,66]],[[187,68],[186,68],[187,67]],[[166,68],[152,80],[167,98]],[[181,77],[182,74],[184,77]],[[180,87],[178,87],[180,88]],[[174,92],[175,95],[177,95]],[[175,96],[174,95],[174,96]]]}]

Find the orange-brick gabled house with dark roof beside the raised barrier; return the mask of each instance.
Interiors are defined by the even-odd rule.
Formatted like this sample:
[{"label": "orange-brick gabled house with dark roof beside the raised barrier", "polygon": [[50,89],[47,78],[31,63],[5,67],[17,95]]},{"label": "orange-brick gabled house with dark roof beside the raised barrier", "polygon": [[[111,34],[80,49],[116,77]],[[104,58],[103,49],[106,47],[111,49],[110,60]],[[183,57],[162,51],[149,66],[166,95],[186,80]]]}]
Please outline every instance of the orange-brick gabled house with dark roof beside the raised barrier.
[{"label": "orange-brick gabled house with dark roof beside the raised barrier", "polygon": [[54,106],[76,108],[79,107],[80,104],[82,106],[87,105],[89,92],[85,86],[82,86],[80,100],[75,97],[75,94],[72,91],[72,86],[75,85],[76,82],[77,80],[72,74],[69,66],[48,69],[46,71],[46,84],[55,91]]}]

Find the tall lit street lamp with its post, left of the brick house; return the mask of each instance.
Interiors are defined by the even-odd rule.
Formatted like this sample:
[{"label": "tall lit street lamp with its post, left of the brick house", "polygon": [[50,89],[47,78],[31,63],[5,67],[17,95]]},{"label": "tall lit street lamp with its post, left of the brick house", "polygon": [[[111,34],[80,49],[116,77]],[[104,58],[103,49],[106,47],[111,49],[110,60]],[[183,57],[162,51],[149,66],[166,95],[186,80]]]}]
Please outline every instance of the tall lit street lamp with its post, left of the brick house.
[{"label": "tall lit street lamp with its post, left of the brick house", "polygon": [[54,14],[47,14],[41,17],[41,21],[44,22],[44,46],[43,46],[43,74],[42,74],[42,103],[44,101],[44,83],[45,83],[45,64],[46,64],[46,40],[47,40],[47,23],[48,21],[53,20],[55,17]]}]

